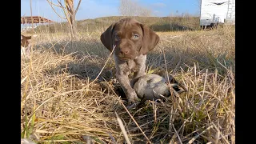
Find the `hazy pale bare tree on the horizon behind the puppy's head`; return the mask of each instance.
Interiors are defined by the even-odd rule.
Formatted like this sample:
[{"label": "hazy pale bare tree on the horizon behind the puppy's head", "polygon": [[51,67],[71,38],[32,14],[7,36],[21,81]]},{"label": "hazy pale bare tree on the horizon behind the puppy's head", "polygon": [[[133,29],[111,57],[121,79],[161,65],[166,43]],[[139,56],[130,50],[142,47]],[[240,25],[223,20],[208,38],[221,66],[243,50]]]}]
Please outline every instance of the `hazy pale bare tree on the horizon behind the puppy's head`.
[{"label": "hazy pale bare tree on the horizon behind the puppy's head", "polygon": [[144,16],[149,17],[152,14],[150,9],[140,6],[134,0],[120,0],[119,12],[123,16]]}]

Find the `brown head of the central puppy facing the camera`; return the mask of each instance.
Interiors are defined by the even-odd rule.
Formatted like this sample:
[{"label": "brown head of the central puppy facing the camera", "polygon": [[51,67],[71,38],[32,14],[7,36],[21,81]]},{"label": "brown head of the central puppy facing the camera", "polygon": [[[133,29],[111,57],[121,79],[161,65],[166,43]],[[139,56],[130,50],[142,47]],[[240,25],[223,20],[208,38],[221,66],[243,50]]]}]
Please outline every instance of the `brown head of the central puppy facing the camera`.
[{"label": "brown head of the central puppy facing the camera", "polygon": [[110,51],[116,46],[114,54],[122,60],[127,60],[153,50],[159,37],[134,18],[124,18],[108,27],[102,33],[101,41]]}]

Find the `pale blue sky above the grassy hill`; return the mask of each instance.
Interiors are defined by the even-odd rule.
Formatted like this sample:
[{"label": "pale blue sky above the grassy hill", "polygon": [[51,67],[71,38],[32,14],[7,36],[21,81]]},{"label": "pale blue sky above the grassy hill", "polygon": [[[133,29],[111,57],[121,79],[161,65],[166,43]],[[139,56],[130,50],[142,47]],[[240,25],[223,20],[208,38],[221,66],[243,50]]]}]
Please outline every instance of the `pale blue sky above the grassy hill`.
[{"label": "pale blue sky above the grassy hill", "polygon": [[[57,0],[50,0],[57,3]],[[188,13],[199,15],[199,0],[134,0],[140,6],[152,10],[154,16],[165,17],[170,14]],[[74,0],[77,6],[78,0]],[[99,18],[106,16],[118,16],[118,6],[120,0],[82,0],[77,13],[77,20],[88,18]],[[51,9],[46,0],[32,0],[32,14],[49,18],[55,22],[63,22]],[[59,14],[62,10],[56,9]],[[178,13],[177,13],[178,12]],[[63,14],[62,14],[63,15]],[[21,16],[30,16],[30,0],[21,0]]]}]

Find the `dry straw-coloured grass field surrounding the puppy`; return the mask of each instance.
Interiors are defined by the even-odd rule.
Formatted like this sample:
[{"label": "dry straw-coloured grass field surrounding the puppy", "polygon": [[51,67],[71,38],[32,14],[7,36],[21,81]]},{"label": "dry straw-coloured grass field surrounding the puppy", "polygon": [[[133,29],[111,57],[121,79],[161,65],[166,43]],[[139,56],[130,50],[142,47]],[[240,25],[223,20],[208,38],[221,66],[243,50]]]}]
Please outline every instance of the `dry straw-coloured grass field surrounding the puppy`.
[{"label": "dry straw-coloured grass field surrounding the puppy", "polygon": [[103,30],[80,31],[75,41],[63,32],[37,34],[30,58],[21,59],[22,138],[124,143],[118,114],[131,143],[234,143],[234,27],[158,30],[146,72],[167,68],[187,92],[137,110],[126,110],[117,94]]}]

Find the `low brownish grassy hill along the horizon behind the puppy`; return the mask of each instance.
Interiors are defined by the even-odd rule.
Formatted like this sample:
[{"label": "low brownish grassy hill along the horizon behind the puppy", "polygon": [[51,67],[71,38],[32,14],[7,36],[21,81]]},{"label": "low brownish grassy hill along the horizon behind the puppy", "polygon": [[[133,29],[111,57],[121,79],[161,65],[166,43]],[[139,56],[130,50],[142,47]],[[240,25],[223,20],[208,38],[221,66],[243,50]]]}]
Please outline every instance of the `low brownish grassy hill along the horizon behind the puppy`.
[{"label": "low brownish grassy hill along the horizon behind the puppy", "polygon": [[[80,33],[94,33],[95,31],[106,30],[110,24],[117,22],[125,16],[103,17],[95,19],[85,19],[77,22],[78,31]],[[199,18],[191,17],[189,14],[184,14],[183,17],[130,17],[136,18],[139,22],[150,26],[152,30],[167,31],[167,30],[198,30]],[[66,22],[54,23],[50,25],[38,26],[35,31],[37,33],[70,32]]]}]

